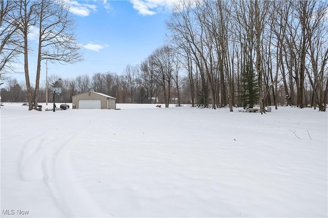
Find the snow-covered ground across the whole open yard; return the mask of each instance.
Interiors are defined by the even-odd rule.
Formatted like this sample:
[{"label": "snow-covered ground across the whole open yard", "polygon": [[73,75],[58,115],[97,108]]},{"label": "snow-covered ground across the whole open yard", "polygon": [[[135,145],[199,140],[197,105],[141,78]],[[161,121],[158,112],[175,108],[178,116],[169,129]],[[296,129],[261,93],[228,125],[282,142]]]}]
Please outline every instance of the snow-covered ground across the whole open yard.
[{"label": "snow-covered ground across the whole open yard", "polygon": [[327,217],[326,112],[117,108],[5,103],[1,216]]}]

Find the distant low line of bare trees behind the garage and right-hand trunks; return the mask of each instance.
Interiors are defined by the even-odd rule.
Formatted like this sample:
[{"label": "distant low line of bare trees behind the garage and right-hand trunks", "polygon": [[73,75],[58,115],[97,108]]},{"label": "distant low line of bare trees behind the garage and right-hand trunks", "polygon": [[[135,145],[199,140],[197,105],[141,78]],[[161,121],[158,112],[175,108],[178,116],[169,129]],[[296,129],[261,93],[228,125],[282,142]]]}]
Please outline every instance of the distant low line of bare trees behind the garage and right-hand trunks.
[{"label": "distant low line of bare trees behind the garage and right-hand trunks", "polygon": [[[62,93],[56,96],[56,101],[63,103],[72,102],[72,96],[78,93],[86,92],[89,90],[105,93],[111,96],[115,96],[117,103],[166,103],[167,104],[191,104],[192,106],[203,107],[204,99],[202,99],[203,93],[201,87],[193,87],[190,83],[189,74],[183,71],[179,71],[179,74],[173,74],[170,85],[170,99],[165,98],[163,88],[159,84],[157,75],[155,74],[154,67],[145,60],[140,65],[126,67],[123,75],[117,75],[114,72],[97,73],[93,76],[81,75],[76,78],[61,79],[58,76],[51,75],[48,77],[48,99],[52,102],[52,87],[51,84],[57,82],[57,86],[62,88]],[[152,73],[151,73],[152,72]],[[180,75],[181,74],[181,75]],[[201,78],[197,74],[193,77],[196,84],[201,83]],[[251,81],[253,81],[251,79]],[[254,83],[256,81],[253,81]],[[305,79],[305,104],[311,104],[312,89],[310,81]],[[234,84],[237,87],[237,83]],[[253,84],[250,83],[252,86]],[[46,102],[46,81],[40,82],[38,99],[39,102]],[[178,88],[177,88],[178,87]],[[194,88],[195,95],[192,95],[192,88]],[[254,86],[255,87],[255,86]],[[34,87],[31,87],[32,92]],[[247,88],[246,88],[247,89]],[[168,91],[168,89],[166,89]],[[248,89],[248,90],[252,90]],[[257,93],[257,92],[256,92]],[[256,94],[245,92],[243,95],[252,97],[248,104],[252,107],[256,101]],[[168,93],[167,93],[168,94]],[[238,98],[238,92],[234,95],[234,106],[244,106],[244,102],[241,98]],[[276,102],[278,105],[286,105],[286,99],[284,95],[283,84],[277,87]],[[17,81],[16,79],[8,78],[6,84],[1,88],[2,102],[27,102],[27,90],[24,81]],[[272,98],[272,95],[271,95]],[[268,104],[269,105],[269,104]]]}]

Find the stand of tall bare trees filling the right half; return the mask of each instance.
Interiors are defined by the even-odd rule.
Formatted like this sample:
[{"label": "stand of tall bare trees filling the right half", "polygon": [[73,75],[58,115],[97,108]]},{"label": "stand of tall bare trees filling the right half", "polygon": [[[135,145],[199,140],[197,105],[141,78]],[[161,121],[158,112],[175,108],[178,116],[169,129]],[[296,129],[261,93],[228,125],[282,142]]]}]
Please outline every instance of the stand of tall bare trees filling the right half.
[{"label": "stand of tall bare trees filling the right half", "polygon": [[257,79],[261,112],[265,104],[277,106],[281,84],[288,103],[303,108],[306,77],[312,102],[325,111],[327,18],[327,3],[316,0],[180,0],[167,26],[188,69],[192,92],[198,85],[195,72],[201,78],[203,99],[211,101],[204,101],[206,106],[230,105],[232,111],[236,96],[244,91],[241,73],[251,69]]}]

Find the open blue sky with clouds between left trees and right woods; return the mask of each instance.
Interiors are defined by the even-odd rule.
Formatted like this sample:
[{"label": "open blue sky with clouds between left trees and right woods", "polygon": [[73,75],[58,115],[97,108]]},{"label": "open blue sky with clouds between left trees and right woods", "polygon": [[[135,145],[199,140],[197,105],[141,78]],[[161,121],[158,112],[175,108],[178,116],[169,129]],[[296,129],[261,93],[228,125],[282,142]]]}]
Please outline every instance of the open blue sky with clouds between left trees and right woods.
[{"label": "open blue sky with clouds between left trees and right woods", "polygon": [[[173,0],[68,2],[85,60],[66,65],[48,61],[48,75],[63,79],[108,71],[121,75],[128,64],[140,64],[168,40],[165,21]],[[34,84],[36,60],[30,60],[30,80]],[[45,62],[41,66],[40,80],[45,81]],[[24,74],[10,76],[25,81]]]}]

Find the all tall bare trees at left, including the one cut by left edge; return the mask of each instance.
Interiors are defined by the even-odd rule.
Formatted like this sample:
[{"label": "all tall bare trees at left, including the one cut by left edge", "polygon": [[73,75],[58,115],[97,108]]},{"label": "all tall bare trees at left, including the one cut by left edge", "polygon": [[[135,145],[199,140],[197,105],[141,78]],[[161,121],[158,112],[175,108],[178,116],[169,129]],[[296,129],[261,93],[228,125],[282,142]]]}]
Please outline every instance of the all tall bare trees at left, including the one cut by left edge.
[{"label": "all tall bare trees at left, including the one cut by left edge", "polygon": [[[36,109],[41,61],[73,63],[81,60],[78,52],[81,45],[75,41],[73,33],[74,21],[65,1],[8,0],[0,1],[0,7],[0,79],[6,72],[14,71],[13,64],[19,55],[23,55],[29,110]],[[36,44],[29,38],[32,30]],[[33,47],[36,47],[37,68],[32,91],[28,59]]]}]

